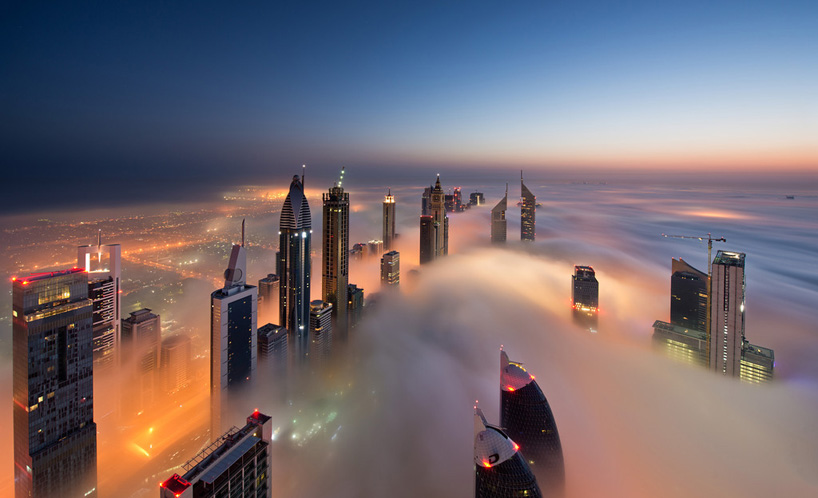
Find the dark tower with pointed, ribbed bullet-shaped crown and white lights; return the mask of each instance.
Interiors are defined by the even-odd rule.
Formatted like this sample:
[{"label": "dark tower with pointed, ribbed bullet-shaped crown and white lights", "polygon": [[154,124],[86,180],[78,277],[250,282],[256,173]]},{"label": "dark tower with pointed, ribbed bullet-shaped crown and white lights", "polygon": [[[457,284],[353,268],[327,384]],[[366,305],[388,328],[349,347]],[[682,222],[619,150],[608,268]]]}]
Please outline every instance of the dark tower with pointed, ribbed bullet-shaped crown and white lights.
[{"label": "dark tower with pointed, ribbed bullet-shaped crown and white lights", "polygon": [[303,177],[293,177],[290,192],[281,208],[280,252],[280,315],[279,322],[287,327],[294,357],[306,359],[310,335],[310,240],[312,222],[310,206],[304,194]]}]

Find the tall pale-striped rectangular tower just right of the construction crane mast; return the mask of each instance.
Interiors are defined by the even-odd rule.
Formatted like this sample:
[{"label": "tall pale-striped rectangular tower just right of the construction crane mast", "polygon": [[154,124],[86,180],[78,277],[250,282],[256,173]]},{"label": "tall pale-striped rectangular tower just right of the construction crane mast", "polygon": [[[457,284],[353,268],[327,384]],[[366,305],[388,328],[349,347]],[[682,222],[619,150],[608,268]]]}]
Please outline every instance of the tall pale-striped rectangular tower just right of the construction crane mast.
[{"label": "tall pale-striped rectangular tower just right of the construction crane mast", "polygon": [[744,342],[744,253],[719,251],[712,271],[710,368],[738,377]]}]

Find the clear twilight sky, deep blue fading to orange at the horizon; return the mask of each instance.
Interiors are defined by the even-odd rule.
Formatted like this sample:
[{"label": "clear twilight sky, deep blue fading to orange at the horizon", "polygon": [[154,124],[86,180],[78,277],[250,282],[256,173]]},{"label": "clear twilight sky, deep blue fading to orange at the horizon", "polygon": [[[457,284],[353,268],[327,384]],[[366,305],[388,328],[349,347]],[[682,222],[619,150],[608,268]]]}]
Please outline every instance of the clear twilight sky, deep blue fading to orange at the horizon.
[{"label": "clear twilight sky, deep blue fading to orange at the horizon", "polygon": [[0,47],[12,193],[302,163],[818,169],[810,1],[12,1]]}]

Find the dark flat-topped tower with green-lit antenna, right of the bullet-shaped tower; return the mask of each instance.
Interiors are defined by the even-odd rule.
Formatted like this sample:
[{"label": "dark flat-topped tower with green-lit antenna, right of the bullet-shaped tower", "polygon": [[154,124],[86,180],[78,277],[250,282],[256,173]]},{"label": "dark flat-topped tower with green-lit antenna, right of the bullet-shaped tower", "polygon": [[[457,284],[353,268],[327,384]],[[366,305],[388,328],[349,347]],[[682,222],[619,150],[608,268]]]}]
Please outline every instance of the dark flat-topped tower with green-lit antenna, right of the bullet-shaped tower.
[{"label": "dark flat-topped tower with green-lit antenna, right of the bullet-shaped tower", "polygon": [[[343,178],[342,171],[341,180]],[[349,194],[340,184],[324,194],[323,232],[322,296],[332,305],[339,339],[345,340],[348,327],[345,303],[349,284]]]}]

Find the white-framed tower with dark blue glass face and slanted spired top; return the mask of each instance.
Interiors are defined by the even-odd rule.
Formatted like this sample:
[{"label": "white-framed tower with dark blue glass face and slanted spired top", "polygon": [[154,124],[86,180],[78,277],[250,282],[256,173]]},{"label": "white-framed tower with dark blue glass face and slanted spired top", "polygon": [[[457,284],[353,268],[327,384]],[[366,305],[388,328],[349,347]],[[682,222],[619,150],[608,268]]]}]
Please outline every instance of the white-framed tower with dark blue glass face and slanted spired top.
[{"label": "white-framed tower with dark blue glass face and slanted spired top", "polygon": [[211,437],[224,430],[223,418],[256,373],[258,289],[247,285],[244,222],[241,245],[234,245],[224,271],[224,287],[210,295]]}]

